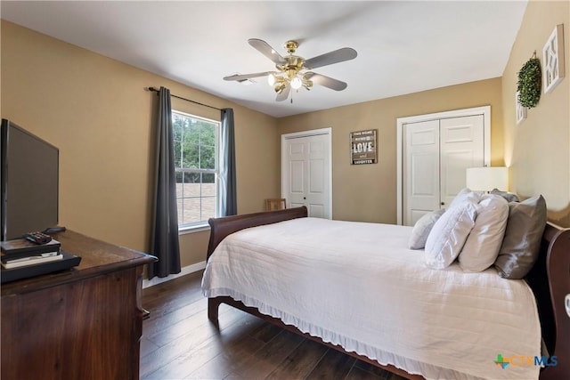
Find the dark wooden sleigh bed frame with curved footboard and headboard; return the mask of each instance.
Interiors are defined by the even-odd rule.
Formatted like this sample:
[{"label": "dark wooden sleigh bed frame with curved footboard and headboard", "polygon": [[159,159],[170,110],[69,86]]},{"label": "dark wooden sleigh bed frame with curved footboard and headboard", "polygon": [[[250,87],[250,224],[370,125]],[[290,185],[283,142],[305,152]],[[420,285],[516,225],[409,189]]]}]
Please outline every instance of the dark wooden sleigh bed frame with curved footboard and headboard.
[{"label": "dark wooden sleigh bed frame with curved footboard and headboard", "polygon": [[[212,255],[217,245],[233,232],[306,216],[307,210],[303,206],[279,211],[212,218],[208,221],[211,227],[208,258]],[[546,225],[542,235],[541,255],[533,270],[527,275],[526,281],[536,296],[544,343],[550,355],[557,356],[558,359],[557,366],[542,368],[540,378],[541,380],[570,378],[570,315],[566,313],[566,309],[570,309],[570,229],[565,230],[550,223]],[[565,297],[568,297],[568,299],[565,300]],[[338,345],[325,343],[316,336],[305,334],[299,331],[297,327],[285,325],[281,322],[281,319],[261,314],[256,308],[248,307],[229,296],[208,298],[208,319],[216,325],[218,307],[221,303],[227,303],[279,327],[327,345],[340,352],[345,352],[354,358],[371,363],[376,367],[384,368],[397,375],[409,379],[423,378],[418,375],[410,375],[392,365],[383,366],[378,361],[371,360],[357,353],[346,352]],[[568,304],[565,305],[565,303]],[[521,328],[524,330],[525,327]]]}]

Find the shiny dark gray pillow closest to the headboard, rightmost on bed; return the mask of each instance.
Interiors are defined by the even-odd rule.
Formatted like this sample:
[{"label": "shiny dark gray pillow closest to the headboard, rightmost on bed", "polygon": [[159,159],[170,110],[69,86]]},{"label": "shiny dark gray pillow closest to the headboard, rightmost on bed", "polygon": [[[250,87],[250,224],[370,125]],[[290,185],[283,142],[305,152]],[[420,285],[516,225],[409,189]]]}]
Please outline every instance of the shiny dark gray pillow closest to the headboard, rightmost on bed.
[{"label": "shiny dark gray pillow closest to the headboard, rightmost on bed", "polygon": [[546,226],[546,201],[541,196],[509,203],[509,221],[495,267],[504,279],[522,279],[533,268]]}]

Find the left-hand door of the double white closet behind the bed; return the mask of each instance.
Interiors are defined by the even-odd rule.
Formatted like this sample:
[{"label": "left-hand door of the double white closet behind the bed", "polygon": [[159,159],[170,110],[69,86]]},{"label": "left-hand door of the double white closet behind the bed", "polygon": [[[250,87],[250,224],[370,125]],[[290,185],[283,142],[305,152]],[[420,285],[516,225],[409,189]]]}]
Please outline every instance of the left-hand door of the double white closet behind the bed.
[{"label": "left-hand door of the double white closet behind the bed", "polygon": [[404,225],[439,208],[439,120],[405,125]]}]

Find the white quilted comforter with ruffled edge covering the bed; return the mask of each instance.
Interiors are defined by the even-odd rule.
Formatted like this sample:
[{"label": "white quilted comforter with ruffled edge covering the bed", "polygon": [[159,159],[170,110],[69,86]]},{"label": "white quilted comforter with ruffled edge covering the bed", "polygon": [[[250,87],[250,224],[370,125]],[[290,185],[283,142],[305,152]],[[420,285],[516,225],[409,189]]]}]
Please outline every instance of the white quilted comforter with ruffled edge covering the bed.
[{"label": "white quilted comforter with ruffled edge covering the bed", "polygon": [[[241,230],[208,260],[208,297],[229,295],[325,342],[427,378],[536,379],[531,289],[494,269],[428,269],[411,227],[301,218]],[[524,364],[524,360],[520,360]]]}]

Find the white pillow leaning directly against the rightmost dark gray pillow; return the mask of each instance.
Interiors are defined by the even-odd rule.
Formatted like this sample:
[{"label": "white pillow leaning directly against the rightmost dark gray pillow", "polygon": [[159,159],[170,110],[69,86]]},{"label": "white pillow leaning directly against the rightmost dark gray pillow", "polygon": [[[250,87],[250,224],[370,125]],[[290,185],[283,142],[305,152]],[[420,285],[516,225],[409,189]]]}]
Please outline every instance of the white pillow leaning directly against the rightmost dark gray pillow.
[{"label": "white pillow leaning directly against the rightmost dark gray pillow", "polygon": [[458,261],[463,271],[485,271],[499,255],[509,218],[509,202],[499,195],[481,197],[475,226],[469,233]]}]

